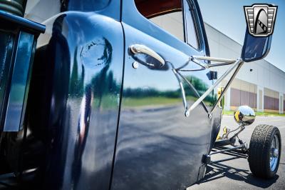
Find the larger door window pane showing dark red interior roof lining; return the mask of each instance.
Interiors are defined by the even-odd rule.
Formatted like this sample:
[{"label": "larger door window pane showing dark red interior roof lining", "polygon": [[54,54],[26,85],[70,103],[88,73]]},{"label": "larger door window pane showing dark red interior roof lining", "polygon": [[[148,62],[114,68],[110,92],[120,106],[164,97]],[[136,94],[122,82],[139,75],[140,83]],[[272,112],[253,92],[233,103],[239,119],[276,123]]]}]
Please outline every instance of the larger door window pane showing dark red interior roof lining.
[{"label": "larger door window pane showing dark red interior roof lining", "polygon": [[185,41],[181,0],[135,0],[140,14],[181,41]]}]

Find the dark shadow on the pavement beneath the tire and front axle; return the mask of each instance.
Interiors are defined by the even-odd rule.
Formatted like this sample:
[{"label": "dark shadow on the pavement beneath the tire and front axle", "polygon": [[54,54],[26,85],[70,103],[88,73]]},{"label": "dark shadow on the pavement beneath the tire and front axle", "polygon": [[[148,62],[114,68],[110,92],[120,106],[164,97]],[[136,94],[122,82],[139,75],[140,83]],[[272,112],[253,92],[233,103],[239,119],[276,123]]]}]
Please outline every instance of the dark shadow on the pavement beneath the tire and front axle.
[{"label": "dark shadow on the pavement beneath the tire and front axle", "polygon": [[274,179],[259,179],[252,175],[252,173],[247,169],[237,169],[232,166],[227,166],[225,164],[216,163],[207,166],[206,175],[202,181],[198,184],[203,184],[208,181],[213,181],[216,179],[221,179],[227,177],[236,181],[244,181],[247,184],[257,186],[260,188],[268,188],[279,179],[279,175],[276,175]]}]

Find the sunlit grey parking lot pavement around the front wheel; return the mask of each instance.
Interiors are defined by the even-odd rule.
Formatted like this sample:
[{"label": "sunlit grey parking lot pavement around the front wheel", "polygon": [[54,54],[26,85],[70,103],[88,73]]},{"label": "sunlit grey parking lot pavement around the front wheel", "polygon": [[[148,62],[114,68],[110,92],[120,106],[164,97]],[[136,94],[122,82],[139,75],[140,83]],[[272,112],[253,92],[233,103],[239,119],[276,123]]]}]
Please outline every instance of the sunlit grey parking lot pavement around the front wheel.
[{"label": "sunlit grey parking lot pavement around the front wheel", "polygon": [[[212,164],[207,167],[207,174],[199,184],[191,186],[187,190],[192,189],[285,189],[285,117],[278,116],[259,116],[254,124],[247,126],[240,139],[249,142],[254,127],[259,124],[270,124],[277,126],[281,132],[283,140],[281,160],[279,170],[274,179],[261,180],[254,177],[249,170],[246,159],[235,159],[232,161],[224,161],[222,163]],[[237,126],[233,116],[224,116],[222,119],[222,127],[228,126],[233,129]],[[213,159],[223,159],[225,155],[215,156]]]}]

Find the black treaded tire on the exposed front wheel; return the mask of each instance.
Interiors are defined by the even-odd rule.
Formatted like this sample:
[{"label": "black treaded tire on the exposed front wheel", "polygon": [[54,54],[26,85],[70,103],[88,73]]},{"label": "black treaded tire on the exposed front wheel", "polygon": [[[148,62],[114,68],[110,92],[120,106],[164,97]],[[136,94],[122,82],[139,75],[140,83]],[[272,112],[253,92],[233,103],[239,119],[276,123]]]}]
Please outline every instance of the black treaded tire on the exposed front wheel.
[{"label": "black treaded tire on the exposed front wheel", "polygon": [[[277,162],[275,167],[270,168],[270,151],[271,142],[276,138],[279,140],[279,154],[276,156]],[[275,140],[276,141],[276,140]],[[276,154],[275,154],[276,155]],[[281,155],[281,136],[276,126],[259,125],[253,133],[249,144],[249,168],[254,176],[271,179],[275,176]]]}]

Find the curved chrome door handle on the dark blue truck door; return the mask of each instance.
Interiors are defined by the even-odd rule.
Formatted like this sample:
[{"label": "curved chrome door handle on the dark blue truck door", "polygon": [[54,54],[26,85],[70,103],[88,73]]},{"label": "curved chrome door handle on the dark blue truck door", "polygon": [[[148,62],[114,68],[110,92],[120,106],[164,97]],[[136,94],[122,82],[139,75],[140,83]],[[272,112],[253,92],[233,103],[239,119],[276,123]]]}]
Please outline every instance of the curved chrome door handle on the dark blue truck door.
[{"label": "curved chrome door handle on the dark blue truck door", "polygon": [[[159,54],[157,54],[155,51],[148,48],[147,46],[140,45],[140,44],[134,44],[134,45],[131,45],[129,47],[129,49],[133,54],[146,54],[148,56],[151,56],[154,59],[156,59],[157,61],[160,61],[161,67],[165,66],[165,60],[162,59],[162,57]],[[150,66],[155,66],[154,64],[148,64],[148,63],[146,63],[146,64],[150,65]]]}]

